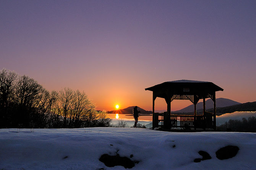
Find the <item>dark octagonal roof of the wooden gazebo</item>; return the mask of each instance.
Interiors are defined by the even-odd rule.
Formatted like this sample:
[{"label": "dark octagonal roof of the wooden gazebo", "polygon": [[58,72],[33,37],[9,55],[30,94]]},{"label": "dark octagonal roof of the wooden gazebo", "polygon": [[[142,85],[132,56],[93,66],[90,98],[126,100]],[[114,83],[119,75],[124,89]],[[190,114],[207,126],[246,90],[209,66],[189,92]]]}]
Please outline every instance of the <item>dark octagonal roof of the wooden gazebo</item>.
[{"label": "dark octagonal roof of the wooden gazebo", "polygon": [[176,80],[167,81],[148,87],[145,90],[152,91],[156,97],[166,98],[172,95],[197,95],[199,99],[209,96],[216,91],[223,91],[222,88],[208,81]]}]

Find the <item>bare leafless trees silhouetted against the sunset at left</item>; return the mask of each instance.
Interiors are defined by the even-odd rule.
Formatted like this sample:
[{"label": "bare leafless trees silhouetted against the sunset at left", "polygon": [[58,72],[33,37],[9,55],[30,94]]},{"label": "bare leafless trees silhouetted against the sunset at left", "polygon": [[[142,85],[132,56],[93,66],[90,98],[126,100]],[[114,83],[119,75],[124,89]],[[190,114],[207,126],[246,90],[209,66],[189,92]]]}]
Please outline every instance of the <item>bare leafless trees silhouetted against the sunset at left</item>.
[{"label": "bare leafless trees silhouetted against the sunset at left", "polygon": [[0,128],[79,128],[110,126],[106,111],[84,92],[47,91],[29,76],[0,70]]}]

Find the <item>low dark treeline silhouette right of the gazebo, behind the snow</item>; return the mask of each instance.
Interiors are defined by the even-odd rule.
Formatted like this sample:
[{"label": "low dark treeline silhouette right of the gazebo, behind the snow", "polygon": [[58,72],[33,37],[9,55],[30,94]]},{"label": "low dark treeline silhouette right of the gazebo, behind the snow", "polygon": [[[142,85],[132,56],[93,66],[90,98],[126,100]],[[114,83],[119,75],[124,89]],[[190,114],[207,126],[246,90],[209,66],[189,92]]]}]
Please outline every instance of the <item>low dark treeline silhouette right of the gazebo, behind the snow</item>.
[{"label": "low dark treeline silhouette right of the gazebo, behind the snow", "polygon": [[217,131],[256,132],[256,117],[251,116],[248,119],[243,118],[242,120],[230,119],[225,124],[218,126]]}]

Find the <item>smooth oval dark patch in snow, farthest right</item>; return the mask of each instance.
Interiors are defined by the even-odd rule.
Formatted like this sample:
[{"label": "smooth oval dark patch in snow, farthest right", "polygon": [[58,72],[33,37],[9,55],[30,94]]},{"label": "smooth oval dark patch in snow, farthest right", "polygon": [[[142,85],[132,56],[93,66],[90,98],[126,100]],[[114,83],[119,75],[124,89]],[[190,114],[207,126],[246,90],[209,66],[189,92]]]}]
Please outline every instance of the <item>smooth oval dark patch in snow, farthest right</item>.
[{"label": "smooth oval dark patch in snow, farthest right", "polygon": [[225,146],[216,152],[216,157],[220,160],[229,159],[237,155],[239,148],[237,146]]}]

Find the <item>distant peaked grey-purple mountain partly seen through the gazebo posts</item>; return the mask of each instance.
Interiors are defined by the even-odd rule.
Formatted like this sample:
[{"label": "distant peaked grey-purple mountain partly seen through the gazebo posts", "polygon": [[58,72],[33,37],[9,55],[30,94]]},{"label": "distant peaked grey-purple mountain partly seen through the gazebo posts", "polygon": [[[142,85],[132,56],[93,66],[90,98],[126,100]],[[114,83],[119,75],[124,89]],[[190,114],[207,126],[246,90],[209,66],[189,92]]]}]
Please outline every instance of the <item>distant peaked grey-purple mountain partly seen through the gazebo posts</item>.
[{"label": "distant peaked grey-purple mountain partly seen through the gazebo posts", "polygon": [[[216,107],[220,108],[220,107],[227,107],[227,106],[232,106],[232,105],[237,105],[237,104],[241,104],[239,102],[230,100],[230,99],[225,99],[225,98],[218,98],[216,99]],[[212,99],[208,99],[205,101],[205,106],[206,106],[206,110],[213,108],[213,101]],[[217,109],[216,109],[217,110]],[[196,111],[198,113],[203,112],[203,102],[199,102],[196,105]],[[194,113],[194,105],[189,105],[181,110],[177,110],[177,111],[172,111],[172,113]]]}]

